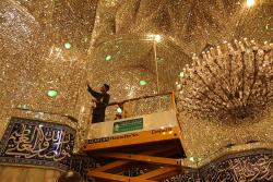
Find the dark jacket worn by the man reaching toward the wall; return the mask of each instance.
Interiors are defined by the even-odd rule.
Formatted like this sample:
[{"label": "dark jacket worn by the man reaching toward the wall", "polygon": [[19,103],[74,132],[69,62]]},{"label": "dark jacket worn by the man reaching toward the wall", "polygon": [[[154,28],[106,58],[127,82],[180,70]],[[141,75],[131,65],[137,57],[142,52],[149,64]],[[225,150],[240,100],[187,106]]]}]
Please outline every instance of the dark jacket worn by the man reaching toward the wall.
[{"label": "dark jacket worn by the man reaching toward the wall", "polygon": [[110,95],[107,93],[105,93],[105,94],[97,93],[97,92],[93,90],[90,86],[88,86],[87,90],[98,101],[98,102],[96,102],[96,107],[93,110],[93,114],[105,117],[105,110],[109,104]]}]

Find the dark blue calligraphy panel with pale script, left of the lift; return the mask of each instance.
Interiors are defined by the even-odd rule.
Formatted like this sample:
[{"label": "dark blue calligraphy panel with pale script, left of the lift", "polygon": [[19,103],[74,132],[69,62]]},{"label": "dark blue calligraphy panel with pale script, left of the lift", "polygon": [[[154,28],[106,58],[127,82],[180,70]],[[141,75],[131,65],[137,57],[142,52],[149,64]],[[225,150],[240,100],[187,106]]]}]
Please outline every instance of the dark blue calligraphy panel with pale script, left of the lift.
[{"label": "dark blue calligraphy panel with pale script, left of the lift", "polygon": [[1,157],[60,162],[71,157],[75,131],[67,125],[13,118],[1,141]]}]

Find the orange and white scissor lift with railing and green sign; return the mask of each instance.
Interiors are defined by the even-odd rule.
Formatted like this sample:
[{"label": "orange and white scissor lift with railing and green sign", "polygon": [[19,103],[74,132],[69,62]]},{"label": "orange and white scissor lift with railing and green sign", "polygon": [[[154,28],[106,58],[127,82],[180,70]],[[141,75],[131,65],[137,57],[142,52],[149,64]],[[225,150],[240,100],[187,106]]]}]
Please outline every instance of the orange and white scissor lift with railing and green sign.
[{"label": "orange and white scissor lift with railing and green sign", "polygon": [[[186,155],[175,96],[168,95],[173,105],[168,110],[91,124],[83,151],[100,165],[88,170],[90,178],[107,182],[151,182],[179,174]],[[146,98],[151,96],[138,100]]]}]

